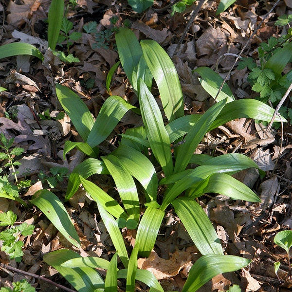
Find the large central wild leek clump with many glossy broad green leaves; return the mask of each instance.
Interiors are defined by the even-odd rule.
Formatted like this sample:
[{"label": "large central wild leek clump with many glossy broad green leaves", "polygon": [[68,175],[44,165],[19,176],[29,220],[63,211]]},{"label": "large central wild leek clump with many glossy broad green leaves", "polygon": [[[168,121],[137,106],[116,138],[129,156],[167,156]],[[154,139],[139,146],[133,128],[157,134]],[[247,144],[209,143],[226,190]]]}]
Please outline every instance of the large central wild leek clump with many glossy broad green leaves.
[{"label": "large central wild leek clump with many glossy broad green leaves", "polygon": [[[44,260],[78,291],[117,291],[117,278],[126,278],[127,292],[134,291],[136,280],[146,283],[150,291],[163,292],[153,274],[137,269],[137,258],[149,256],[165,211],[172,208],[202,255],[190,269],[182,290],[194,292],[215,275],[238,270],[250,263],[246,258],[223,255],[217,233],[196,198],[214,192],[234,200],[260,201],[252,190],[231,176],[250,167],[258,168],[251,159],[237,153],[211,157],[194,152],[208,131],[241,117],[270,121],[274,110],[257,100],[223,98],[202,115],[184,116],[179,77],[164,49],[152,40],[139,43],[134,33],[126,28],[121,28],[116,34],[116,43],[121,64],[139,98],[140,109],[119,96],[110,96],[94,121],[73,91],[56,85],[62,107],[84,140],[67,141],[64,155],[76,147],[89,156],[71,173],[65,200],[74,195],[80,183],[83,184],[97,203],[116,253],[106,261],[99,257],[83,258],[63,249],[45,255]],[[150,91],[153,78],[168,120],[166,126]],[[98,145],[110,135],[128,110],[141,114],[144,126],[127,129],[117,149],[100,157]],[[176,145],[174,149],[172,144]],[[199,166],[187,168],[190,163]],[[156,169],[164,176],[160,181]],[[260,169],[259,172],[263,174]],[[87,180],[93,174],[112,176],[123,207]],[[142,197],[138,193],[141,188],[137,187],[134,178],[144,190],[143,201],[139,199]],[[159,187],[161,185],[164,187]],[[143,204],[146,210],[141,216]],[[135,246],[130,255],[119,228],[120,219],[128,228],[137,228]],[[117,256],[124,269],[117,269]],[[105,279],[94,268],[107,269]]]}]

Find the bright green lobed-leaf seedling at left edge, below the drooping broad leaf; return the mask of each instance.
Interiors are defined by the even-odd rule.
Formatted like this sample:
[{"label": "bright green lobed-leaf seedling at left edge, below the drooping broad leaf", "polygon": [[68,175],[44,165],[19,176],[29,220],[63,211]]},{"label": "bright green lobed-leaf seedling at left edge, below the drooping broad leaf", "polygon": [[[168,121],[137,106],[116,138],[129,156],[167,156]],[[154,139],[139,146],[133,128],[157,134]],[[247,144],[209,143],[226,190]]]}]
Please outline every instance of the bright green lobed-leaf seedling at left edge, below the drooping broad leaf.
[{"label": "bright green lobed-leaf seedling at left edge, below the drooping broad leaf", "polygon": [[1,251],[19,262],[23,256],[22,246],[23,241],[20,240],[21,236],[32,235],[35,229],[34,225],[27,224],[26,222],[20,225],[14,225],[17,216],[12,211],[0,213],[0,226],[9,226],[4,231],[0,232],[0,240],[2,240]]}]

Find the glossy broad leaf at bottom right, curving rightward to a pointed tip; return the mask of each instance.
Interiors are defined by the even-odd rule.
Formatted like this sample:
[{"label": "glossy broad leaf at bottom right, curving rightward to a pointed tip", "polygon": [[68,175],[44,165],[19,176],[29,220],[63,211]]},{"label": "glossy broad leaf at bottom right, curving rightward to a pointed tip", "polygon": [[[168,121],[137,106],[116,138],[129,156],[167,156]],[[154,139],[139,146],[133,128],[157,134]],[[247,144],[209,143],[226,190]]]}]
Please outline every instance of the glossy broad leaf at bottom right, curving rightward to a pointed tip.
[{"label": "glossy broad leaf at bottom right, curving rightward to a pointed tip", "polygon": [[182,292],[195,292],[216,275],[237,271],[250,262],[250,259],[239,256],[201,256],[191,267]]}]

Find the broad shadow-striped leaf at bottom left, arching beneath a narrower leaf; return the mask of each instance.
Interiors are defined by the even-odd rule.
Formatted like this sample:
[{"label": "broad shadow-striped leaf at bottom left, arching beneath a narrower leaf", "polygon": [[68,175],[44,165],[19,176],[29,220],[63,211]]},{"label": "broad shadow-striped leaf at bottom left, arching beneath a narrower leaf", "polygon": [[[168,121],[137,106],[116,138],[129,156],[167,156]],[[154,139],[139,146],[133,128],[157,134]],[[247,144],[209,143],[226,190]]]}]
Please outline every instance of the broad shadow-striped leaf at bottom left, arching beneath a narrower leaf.
[{"label": "broad shadow-striped leaf at bottom left, arching beneath a narrower leaf", "polygon": [[60,249],[43,256],[44,261],[54,267],[78,292],[103,292],[104,281],[98,272],[90,267],[63,267],[62,264],[74,258],[82,258],[77,253]]}]

